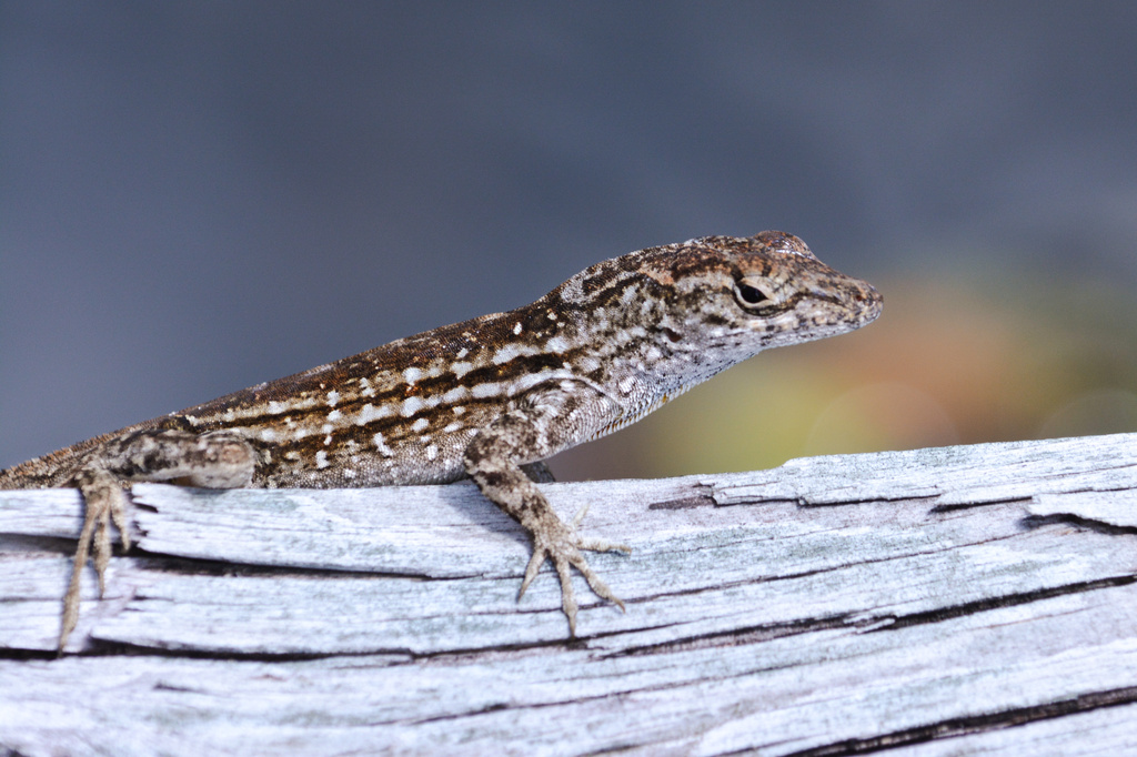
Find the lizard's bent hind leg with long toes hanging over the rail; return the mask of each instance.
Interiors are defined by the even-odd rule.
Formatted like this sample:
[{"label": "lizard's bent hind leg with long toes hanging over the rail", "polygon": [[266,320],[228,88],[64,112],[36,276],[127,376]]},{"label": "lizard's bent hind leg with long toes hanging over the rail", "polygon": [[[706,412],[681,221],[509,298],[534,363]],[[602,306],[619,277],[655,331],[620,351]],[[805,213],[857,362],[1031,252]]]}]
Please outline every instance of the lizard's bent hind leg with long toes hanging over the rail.
[{"label": "lizard's bent hind leg with long toes hanging over the rail", "polygon": [[64,596],[59,650],[63,651],[78,622],[80,576],[92,548],[99,597],[103,594],[111,554],[111,522],[122,534],[123,548],[131,547],[124,483],[176,480],[191,486],[235,489],[251,483],[255,461],[256,454],[249,443],[230,431],[205,434],[166,429],[136,431],[109,440],[93,451],[73,481],[83,494],[86,510]]}]

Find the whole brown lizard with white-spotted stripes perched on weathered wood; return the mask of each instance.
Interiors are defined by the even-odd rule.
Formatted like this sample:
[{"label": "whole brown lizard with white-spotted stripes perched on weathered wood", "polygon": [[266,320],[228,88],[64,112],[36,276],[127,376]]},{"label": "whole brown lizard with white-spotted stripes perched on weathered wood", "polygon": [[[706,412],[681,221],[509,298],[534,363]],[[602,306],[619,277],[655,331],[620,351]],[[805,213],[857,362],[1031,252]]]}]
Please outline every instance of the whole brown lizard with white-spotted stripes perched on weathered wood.
[{"label": "whole brown lizard with white-spotted stripes perched on weathered wood", "polygon": [[[85,510],[58,649],[78,619],[89,557],[105,591],[111,524],[131,546],[132,482],[230,489],[441,484],[472,479],[532,542],[518,600],[546,560],[576,633],[575,568],[624,609],[581,536],[536,485],[543,460],[623,429],[772,347],[860,328],[869,283],[797,236],[705,236],[598,263],[531,305],[442,326],[126,426],[0,471],[0,489],[77,488]],[[91,552],[93,551],[93,557]]]}]

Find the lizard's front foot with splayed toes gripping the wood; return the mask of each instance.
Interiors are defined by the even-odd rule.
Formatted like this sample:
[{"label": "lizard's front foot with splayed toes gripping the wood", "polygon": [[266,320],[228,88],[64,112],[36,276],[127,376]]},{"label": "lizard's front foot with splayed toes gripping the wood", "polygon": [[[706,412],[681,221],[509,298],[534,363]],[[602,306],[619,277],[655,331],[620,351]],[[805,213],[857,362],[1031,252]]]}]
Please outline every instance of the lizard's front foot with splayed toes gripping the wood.
[{"label": "lizard's front foot with splayed toes gripping the wood", "polygon": [[586,505],[573,517],[571,527],[564,525],[558,519],[555,521],[555,525],[549,524],[533,532],[533,556],[529,559],[529,565],[525,567],[525,577],[521,582],[521,591],[517,592],[517,599],[521,599],[525,590],[529,589],[529,584],[537,577],[537,573],[545,564],[545,560],[553,560],[553,567],[556,568],[557,577],[561,580],[561,608],[568,618],[570,637],[576,635],[578,609],[576,596],[572,588],[572,571],[570,571],[570,566],[575,567],[584,576],[589,588],[591,588],[597,597],[614,602],[621,610],[626,609],[624,602],[612,593],[612,590],[596,574],[588,564],[588,560],[584,559],[584,556],[580,554],[580,550],[631,554],[631,547],[601,539],[582,539],[579,536],[576,534],[576,526],[584,519],[587,513],[588,506]]}]

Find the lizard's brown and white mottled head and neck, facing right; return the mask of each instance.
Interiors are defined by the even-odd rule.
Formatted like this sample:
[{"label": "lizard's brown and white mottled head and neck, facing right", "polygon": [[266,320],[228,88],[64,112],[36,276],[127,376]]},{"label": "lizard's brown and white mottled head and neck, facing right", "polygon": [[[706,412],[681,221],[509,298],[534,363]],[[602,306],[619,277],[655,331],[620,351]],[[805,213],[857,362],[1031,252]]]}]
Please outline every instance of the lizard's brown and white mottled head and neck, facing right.
[{"label": "lizard's brown and white mottled head and neck, facing right", "polygon": [[767,231],[598,263],[532,313],[537,324],[574,324],[571,338],[551,330],[557,350],[587,343],[590,359],[581,360],[581,372],[596,373],[594,380],[608,366],[653,376],[653,391],[673,396],[764,349],[860,328],[880,308],[870,284],[830,268],[797,236]]}]

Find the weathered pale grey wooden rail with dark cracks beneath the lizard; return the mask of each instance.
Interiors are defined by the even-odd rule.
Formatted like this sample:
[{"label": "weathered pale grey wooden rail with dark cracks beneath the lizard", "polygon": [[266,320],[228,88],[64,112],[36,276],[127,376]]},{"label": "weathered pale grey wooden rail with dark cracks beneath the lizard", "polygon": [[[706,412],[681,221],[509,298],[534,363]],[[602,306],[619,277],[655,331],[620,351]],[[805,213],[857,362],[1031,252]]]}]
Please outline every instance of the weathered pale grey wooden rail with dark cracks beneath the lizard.
[{"label": "weathered pale grey wooden rail with dark cracks beneath the lizard", "polygon": [[1137,746],[1137,434],[547,485],[630,557],[566,640],[471,485],[0,492],[0,751],[1122,754]]}]

